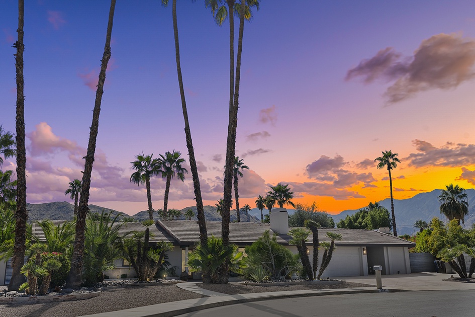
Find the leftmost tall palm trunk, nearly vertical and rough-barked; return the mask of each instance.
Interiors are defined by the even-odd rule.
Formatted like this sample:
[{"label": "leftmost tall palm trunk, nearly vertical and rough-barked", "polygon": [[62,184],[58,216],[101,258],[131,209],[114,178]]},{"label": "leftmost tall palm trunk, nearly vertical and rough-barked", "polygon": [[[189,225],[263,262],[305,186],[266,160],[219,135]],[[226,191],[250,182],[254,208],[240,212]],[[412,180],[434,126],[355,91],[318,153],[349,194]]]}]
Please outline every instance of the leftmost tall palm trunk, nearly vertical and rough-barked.
[{"label": "leftmost tall palm trunk, nearly vertical and rough-barked", "polygon": [[26,149],[25,149],[25,96],[23,91],[23,25],[25,16],[24,0],[18,1],[18,40],[14,47],[15,68],[17,75],[17,115],[16,115],[16,141],[17,141],[17,210],[15,212],[15,245],[12,259],[12,279],[8,285],[8,290],[18,290],[25,282],[25,277],[20,273],[25,258],[26,242],[26,221],[28,212],[26,210]]}]

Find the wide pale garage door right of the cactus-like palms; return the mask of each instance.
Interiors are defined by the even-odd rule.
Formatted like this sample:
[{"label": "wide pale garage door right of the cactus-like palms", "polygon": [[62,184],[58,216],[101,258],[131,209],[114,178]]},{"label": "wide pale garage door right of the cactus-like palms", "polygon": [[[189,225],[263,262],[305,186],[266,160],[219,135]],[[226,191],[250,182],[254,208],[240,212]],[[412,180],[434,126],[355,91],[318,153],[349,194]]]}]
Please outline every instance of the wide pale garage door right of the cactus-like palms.
[{"label": "wide pale garage door right of the cactus-like palms", "polygon": [[328,268],[323,272],[322,278],[332,276],[360,276],[363,271],[361,267],[361,256],[360,248],[338,247],[333,253]]}]

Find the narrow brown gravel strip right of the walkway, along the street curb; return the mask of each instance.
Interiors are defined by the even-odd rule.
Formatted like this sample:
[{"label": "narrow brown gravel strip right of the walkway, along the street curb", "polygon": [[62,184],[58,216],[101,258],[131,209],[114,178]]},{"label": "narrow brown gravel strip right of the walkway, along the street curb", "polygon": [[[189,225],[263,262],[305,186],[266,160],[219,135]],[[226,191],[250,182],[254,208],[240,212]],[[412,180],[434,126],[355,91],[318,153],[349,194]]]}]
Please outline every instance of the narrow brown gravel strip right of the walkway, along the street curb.
[{"label": "narrow brown gravel strip right of the walkway, along the street curb", "polygon": [[231,282],[228,284],[197,284],[198,286],[211,290],[214,292],[235,295],[246,293],[264,293],[264,292],[280,292],[280,291],[292,291],[292,290],[306,290],[306,289],[338,289],[338,288],[351,288],[351,287],[374,287],[374,285],[343,282],[341,284],[325,285],[319,284],[300,284],[300,285],[284,285],[284,286],[256,286],[250,284],[242,284],[239,282]]}]

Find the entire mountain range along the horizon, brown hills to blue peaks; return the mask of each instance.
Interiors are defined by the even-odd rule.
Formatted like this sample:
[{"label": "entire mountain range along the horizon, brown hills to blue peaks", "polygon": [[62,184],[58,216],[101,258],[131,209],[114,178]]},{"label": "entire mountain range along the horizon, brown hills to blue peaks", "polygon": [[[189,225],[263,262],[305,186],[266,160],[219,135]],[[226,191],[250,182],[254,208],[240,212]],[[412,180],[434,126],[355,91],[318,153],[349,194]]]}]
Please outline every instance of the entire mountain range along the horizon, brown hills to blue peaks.
[{"label": "entire mountain range along the horizon, brown hills to blue peaks", "polygon": [[[420,193],[416,196],[408,199],[394,199],[394,213],[396,216],[396,223],[399,234],[413,234],[417,228],[414,228],[414,223],[422,219],[429,223],[433,217],[439,217],[442,220],[446,220],[443,215],[440,214],[439,209],[439,200],[440,189],[435,189],[428,193]],[[471,226],[475,223],[475,189],[466,190],[468,198],[468,215],[465,217],[465,227]],[[388,208],[391,211],[391,199],[387,198],[378,202],[383,207]],[[364,208],[365,206],[361,206]],[[29,211],[29,221],[33,220],[42,220],[42,219],[51,219],[51,220],[71,220],[74,214],[74,205],[68,202],[51,202],[44,204],[27,204],[27,209]],[[148,219],[148,211],[140,211],[133,216],[129,216],[125,213],[122,213],[117,210],[103,208],[96,205],[89,205],[89,209],[92,212],[101,213],[103,209],[106,212],[119,213],[120,217],[132,217],[139,221]],[[197,212],[196,206],[190,206],[181,209],[181,214],[184,214],[187,209],[192,209],[195,214]],[[207,221],[221,221],[221,216],[216,212],[216,207],[214,206],[204,206],[205,210],[205,219]],[[331,215],[335,224],[342,218],[345,218],[347,215],[352,215],[359,209],[344,210],[336,215]],[[267,209],[264,209],[264,214]],[[288,209],[289,214],[294,213],[294,209]],[[156,219],[157,215],[154,215]],[[241,212],[241,221],[245,219],[246,214]],[[231,221],[236,221],[236,210],[231,210]],[[181,219],[185,219],[182,217]],[[192,219],[198,220],[197,217]],[[249,221],[250,222],[260,222],[260,210],[257,208],[249,211]]]}]

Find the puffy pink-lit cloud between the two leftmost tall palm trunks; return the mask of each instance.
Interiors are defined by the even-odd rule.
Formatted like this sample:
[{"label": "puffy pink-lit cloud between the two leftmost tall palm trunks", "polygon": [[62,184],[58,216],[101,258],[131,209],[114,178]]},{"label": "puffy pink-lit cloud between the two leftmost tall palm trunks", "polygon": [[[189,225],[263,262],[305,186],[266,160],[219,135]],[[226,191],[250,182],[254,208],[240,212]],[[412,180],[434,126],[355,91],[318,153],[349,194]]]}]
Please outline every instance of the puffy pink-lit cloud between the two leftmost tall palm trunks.
[{"label": "puffy pink-lit cloud between the two leftmost tall palm trunks", "polygon": [[26,135],[31,140],[30,152],[32,155],[36,156],[62,150],[73,154],[86,154],[86,150],[79,147],[76,142],[56,136],[46,122],[37,124],[35,128],[36,130]]}]

